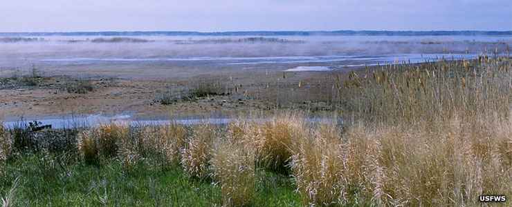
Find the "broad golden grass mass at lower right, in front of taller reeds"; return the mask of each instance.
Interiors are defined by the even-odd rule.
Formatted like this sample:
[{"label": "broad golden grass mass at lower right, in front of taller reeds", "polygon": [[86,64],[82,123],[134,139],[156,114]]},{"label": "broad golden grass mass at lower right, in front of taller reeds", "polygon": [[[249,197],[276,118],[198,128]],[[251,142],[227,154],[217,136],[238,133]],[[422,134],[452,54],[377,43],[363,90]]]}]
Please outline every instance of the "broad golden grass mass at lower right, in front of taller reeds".
[{"label": "broad golden grass mass at lower right, in front of taller reeds", "polygon": [[476,206],[512,193],[511,121],[441,126],[354,125],[330,140],[318,128],[291,162],[304,205]]}]

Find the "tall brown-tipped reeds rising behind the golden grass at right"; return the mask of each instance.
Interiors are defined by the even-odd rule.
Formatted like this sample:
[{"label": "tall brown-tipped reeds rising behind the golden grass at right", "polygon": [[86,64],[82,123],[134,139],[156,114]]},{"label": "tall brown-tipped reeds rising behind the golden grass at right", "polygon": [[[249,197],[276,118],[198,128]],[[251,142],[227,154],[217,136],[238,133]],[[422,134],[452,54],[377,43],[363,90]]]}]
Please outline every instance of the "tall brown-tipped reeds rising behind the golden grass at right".
[{"label": "tall brown-tipped reeds rising behind the golden grass at right", "polygon": [[505,57],[390,65],[338,84],[345,121],[427,124],[509,115],[512,61]]}]

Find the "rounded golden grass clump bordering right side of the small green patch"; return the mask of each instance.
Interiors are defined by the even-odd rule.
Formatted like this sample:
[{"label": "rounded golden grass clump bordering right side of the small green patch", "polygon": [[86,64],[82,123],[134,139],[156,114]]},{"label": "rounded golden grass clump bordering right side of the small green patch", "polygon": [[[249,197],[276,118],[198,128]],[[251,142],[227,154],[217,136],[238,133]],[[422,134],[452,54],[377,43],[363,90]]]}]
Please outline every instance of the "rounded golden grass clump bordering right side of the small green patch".
[{"label": "rounded golden grass clump bordering right side of the small green patch", "polygon": [[290,166],[304,205],[346,204],[343,199],[347,195],[345,181],[349,175],[345,174],[339,136],[323,130],[312,132],[306,139],[300,139],[293,152]]}]

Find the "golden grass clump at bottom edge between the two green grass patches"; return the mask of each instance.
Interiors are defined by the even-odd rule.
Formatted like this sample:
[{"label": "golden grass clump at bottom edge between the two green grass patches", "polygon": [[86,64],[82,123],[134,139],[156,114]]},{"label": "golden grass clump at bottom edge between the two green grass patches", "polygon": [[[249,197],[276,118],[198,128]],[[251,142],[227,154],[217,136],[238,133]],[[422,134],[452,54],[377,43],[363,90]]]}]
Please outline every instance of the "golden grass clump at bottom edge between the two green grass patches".
[{"label": "golden grass clump at bottom edge between the two green grass patches", "polygon": [[223,206],[249,206],[256,194],[253,148],[222,141],[210,161],[212,175],[221,187]]}]

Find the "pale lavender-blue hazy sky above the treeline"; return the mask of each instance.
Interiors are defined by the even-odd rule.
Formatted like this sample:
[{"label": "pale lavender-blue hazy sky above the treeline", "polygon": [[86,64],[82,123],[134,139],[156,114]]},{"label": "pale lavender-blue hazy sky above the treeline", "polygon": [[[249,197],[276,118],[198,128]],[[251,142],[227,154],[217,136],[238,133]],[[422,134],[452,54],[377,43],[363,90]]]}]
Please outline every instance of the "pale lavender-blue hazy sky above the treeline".
[{"label": "pale lavender-blue hazy sky above the treeline", "polygon": [[512,30],[512,0],[6,0],[1,32]]}]

